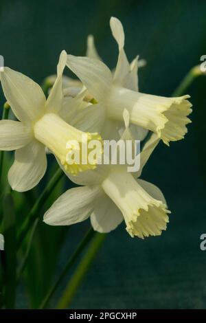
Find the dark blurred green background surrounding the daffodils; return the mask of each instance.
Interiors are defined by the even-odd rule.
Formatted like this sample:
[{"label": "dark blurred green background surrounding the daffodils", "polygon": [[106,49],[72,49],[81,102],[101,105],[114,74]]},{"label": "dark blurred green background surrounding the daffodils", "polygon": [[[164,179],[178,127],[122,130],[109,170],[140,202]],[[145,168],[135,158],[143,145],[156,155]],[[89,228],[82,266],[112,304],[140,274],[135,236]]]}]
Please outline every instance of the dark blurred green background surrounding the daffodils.
[{"label": "dark blurred green background surrounding the daffodils", "polygon": [[[117,16],[124,25],[128,59],[139,54],[147,60],[139,71],[140,91],[171,96],[185,74],[206,54],[205,14],[206,2],[201,0],[1,0],[0,54],[5,66],[41,83],[56,73],[62,49],[84,55],[87,36],[93,34],[100,56],[113,68],[117,45],[109,19]],[[130,238],[124,224],[108,234],[71,308],[206,308],[206,251],[200,249],[200,236],[206,233],[205,88],[206,77],[201,76],[187,89],[194,112],[185,140],[172,143],[170,148],[159,144],[142,175],[161,188],[168,201],[172,211],[168,230],[144,241]],[[0,100],[2,107],[2,92]],[[49,159],[47,178],[56,168],[54,158]],[[46,179],[33,193],[15,193],[17,223],[27,216],[30,203],[45,183]],[[71,187],[71,183],[64,179],[43,208],[51,205],[65,187]],[[24,208],[19,202],[22,200],[28,204]],[[17,308],[38,307],[87,227],[89,221],[71,228],[38,226],[17,289]],[[51,307],[68,279],[55,293]]]}]

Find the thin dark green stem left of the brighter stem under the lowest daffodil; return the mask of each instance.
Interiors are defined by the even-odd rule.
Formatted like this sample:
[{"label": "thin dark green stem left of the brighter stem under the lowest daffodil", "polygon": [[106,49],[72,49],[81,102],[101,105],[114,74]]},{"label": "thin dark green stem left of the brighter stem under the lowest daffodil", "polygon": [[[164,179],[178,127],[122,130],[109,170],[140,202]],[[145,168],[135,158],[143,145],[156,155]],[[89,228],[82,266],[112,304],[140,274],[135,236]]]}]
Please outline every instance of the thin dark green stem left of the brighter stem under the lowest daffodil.
[{"label": "thin dark green stem left of the brighter stem under the lowest daffodil", "polygon": [[60,276],[58,277],[58,279],[56,280],[56,282],[54,283],[52,288],[49,290],[49,292],[47,293],[47,295],[43,299],[43,302],[41,303],[41,306],[39,307],[39,309],[45,309],[45,307],[47,307],[49,300],[54,295],[54,292],[56,291],[57,287],[60,285],[60,282],[62,282],[62,279],[65,277],[65,275],[67,274],[69,269],[71,269],[71,267],[75,263],[78,256],[81,254],[84,247],[86,247],[87,243],[89,243],[89,241],[91,241],[91,239],[93,238],[93,236],[95,236],[95,234],[96,233],[93,231],[92,228],[89,229],[89,231],[84,236],[84,238],[82,239],[82,241],[80,242],[80,244],[78,245],[76,250],[73,252],[71,257],[69,258],[69,260],[68,260],[67,264],[65,265],[64,269],[62,270]]}]

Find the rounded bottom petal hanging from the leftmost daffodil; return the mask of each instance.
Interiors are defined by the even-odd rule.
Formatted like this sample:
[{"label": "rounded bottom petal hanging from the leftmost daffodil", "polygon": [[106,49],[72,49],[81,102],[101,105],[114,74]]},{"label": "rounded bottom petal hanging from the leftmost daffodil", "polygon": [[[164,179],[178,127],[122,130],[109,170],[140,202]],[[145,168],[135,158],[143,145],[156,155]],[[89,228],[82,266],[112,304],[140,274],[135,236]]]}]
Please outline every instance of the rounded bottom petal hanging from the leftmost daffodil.
[{"label": "rounded bottom petal hanging from the leftmost daffodil", "polygon": [[15,152],[14,164],[8,173],[8,181],[13,190],[31,190],[45,175],[47,158],[45,147],[36,140]]}]

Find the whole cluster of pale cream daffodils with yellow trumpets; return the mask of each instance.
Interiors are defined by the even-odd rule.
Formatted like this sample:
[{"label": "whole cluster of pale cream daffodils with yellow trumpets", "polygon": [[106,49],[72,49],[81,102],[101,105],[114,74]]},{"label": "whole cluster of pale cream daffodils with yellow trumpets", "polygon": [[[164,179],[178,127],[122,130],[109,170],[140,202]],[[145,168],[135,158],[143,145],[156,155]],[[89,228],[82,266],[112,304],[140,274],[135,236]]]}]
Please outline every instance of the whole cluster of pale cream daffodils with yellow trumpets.
[{"label": "whole cluster of pale cream daffodils with yellow trumpets", "polygon": [[[0,149],[14,151],[8,173],[13,190],[34,188],[45,174],[45,148],[53,153],[67,177],[80,185],[62,194],[45,213],[49,225],[71,225],[88,219],[98,232],[110,232],[126,223],[130,236],[160,235],[168,223],[167,203],[157,186],[140,179],[141,171],[159,141],[169,146],[187,133],[192,112],[190,96],[165,98],[139,92],[137,56],[131,63],[124,51],[122,23],[111,18],[111,32],[119,55],[113,71],[102,62],[93,36],[87,41],[87,56],[63,51],[57,76],[46,99],[36,82],[5,67],[1,85],[18,121],[1,120]],[[65,67],[78,80],[63,76]],[[148,132],[150,131],[150,135]],[[82,135],[88,140],[144,140],[140,169],[128,172],[126,165],[68,164],[68,153],[81,149]],[[67,146],[73,140],[75,144]]]}]

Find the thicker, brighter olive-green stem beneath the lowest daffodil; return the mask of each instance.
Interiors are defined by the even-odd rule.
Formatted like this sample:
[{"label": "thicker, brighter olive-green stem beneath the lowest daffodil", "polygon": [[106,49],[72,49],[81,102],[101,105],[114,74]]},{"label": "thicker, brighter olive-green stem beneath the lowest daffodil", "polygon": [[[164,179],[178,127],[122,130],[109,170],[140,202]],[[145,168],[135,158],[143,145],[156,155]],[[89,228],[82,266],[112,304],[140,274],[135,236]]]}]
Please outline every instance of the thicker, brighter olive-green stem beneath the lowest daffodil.
[{"label": "thicker, brighter olive-green stem beneath the lowest daffodil", "polygon": [[95,234],[95,237],[89,245],[87,252],[84,254],[73,276],[71,276],[71,279],[69,280],[69,283],[67,284],[67,287],[65,288],[65,291],[62,294],[62,297],[60,298],[56,309],[67,309],[69,307],[71,300],[73,300],[73,296],[75,295],[85,274],[87,274],[87,271],[93,263],[93,260],[100,250],[100,247],[102,246],[105,238],[106,234]]}]

